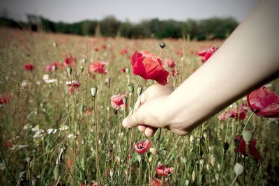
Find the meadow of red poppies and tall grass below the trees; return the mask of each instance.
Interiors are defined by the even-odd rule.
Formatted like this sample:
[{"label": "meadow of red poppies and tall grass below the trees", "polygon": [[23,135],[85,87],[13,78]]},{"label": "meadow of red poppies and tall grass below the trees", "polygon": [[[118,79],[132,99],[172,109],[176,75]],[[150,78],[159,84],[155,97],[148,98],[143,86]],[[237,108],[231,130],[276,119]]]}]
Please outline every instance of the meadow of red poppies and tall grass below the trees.
[{"label": "meadow of red poppies and tall grass below the trees", "polygon": [[177,88],[222,42],[0,28],[0,185],[278,185],[278,79],[187,136],[122,126],[142,91]]}]

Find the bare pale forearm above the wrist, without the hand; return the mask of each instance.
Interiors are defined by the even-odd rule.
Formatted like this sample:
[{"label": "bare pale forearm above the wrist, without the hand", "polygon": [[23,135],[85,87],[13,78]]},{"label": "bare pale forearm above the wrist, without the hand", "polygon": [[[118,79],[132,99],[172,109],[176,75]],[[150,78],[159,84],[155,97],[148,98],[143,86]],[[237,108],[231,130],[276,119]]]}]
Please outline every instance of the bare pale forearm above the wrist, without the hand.
[{"label": "bare pale forearm above the wrist, without the hand", "polygon": [[[169,95],[172,113],[194,128],[279,74],[278,1],[263,1],[211,59]],[[178,118],[179,120],[181,118]]]}]

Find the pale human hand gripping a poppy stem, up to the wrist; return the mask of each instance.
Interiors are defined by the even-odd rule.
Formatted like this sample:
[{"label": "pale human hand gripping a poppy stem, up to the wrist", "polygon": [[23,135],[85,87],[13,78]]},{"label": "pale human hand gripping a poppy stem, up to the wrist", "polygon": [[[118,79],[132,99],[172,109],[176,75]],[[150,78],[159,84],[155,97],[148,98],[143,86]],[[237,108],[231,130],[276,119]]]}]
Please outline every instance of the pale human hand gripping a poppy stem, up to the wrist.
[{"label": "pale human hand gripping a poppy stem, up to the wrist", "polygon": [[146,89],[137,99],[133,114],[129,114],[122,122],[123,127],[136,127],[147,137],[152,137],[158,128],[167,128],[176,134],[185,135],[183,125],[176,125],[172,112],[172,104],[168,97],[172,90],[160,84],[154,84]]}]

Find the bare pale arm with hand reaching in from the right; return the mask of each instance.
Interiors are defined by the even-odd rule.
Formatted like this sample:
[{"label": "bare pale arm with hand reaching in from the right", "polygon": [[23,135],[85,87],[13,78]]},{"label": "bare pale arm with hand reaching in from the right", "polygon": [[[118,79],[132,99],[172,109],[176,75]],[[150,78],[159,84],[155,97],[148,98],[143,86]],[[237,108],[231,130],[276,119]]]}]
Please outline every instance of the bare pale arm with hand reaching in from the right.
[{"label": "bare pale arm with hand reaching in from the right", "polygon": [[218,51],[176,90],[154,84],[140,95],[123,127],[147,137],[158,128],[179,135],[279,76],[279,1],[261,1]]}]

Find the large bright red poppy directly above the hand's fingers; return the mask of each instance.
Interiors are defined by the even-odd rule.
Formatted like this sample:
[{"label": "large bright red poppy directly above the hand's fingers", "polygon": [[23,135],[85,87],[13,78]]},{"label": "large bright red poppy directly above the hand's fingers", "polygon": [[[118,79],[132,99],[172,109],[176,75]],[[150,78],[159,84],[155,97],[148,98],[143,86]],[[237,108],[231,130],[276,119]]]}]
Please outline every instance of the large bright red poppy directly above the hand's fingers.
[{"label": "large bright red poppy directly above the hand's fingers", "polygon": [[145,50],[141,52],[135,51],[130,58],[130,62],[135,75],[140,75],[144,79],[153,79],[162,85],[167,84],[169,72],[163,68],[161,59],[155,54]]}]

